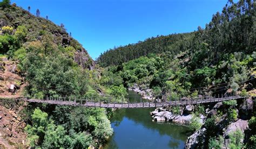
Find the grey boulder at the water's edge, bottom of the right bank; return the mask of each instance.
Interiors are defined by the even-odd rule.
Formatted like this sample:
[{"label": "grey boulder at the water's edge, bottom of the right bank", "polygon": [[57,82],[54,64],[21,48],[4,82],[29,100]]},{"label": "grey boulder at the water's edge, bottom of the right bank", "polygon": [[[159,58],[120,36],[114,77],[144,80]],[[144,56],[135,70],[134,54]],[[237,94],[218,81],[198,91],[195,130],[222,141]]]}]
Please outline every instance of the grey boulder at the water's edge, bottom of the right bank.
[{"label": "grey boulder at the water's edge, bottom of the right bank", "polygon": [[203,145],[205,142],[205,132],[206,128],[201,128],[200,130],[193,133],[187,138],[186,148],[198,148],[199,145]]}]

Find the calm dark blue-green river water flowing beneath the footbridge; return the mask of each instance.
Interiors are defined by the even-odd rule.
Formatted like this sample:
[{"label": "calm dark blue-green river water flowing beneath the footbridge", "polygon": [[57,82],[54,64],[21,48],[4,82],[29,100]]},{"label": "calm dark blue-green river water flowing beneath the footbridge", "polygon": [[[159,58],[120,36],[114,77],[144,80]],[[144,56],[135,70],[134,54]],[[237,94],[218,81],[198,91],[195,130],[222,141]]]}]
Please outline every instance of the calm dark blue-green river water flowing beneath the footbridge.
[{"label": "calm dark blue-green river water flowing beneath the footbridge", "polygon": [[[140,95],[129,91],[129,100],[140,101]],[[145,100],[145,99],[143,99]],[[104,148],[184,148],[188,128],[172,123],[152,121],[154,109],[118,109],[111,118],[113,136]]]}]

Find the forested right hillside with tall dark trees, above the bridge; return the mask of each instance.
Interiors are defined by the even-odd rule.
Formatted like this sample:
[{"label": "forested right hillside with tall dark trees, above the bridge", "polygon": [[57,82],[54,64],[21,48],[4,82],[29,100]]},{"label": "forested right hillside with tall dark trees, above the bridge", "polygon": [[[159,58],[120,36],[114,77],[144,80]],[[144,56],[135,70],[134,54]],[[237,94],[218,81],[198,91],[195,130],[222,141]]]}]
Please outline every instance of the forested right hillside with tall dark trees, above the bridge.
[{"label": "forested right hillside with tall dark trees, above the bridge", "polygon": [[[238,91],[239,86],[250,79],[250,74],[255,73],[254,7],[253,1],[229,1],[221,13],[213,15],[205,29],[198,27],[196,32],[156,37],[110,50],[97,62],[110,65],[106,67],[110,78],[121,77],[128,87],[137,83],[156,92],[187,96],[195,91],[190,90],[192,88],[206,86],[207,89],[207,86],[227,83],[219,86],[223,87],[221,90],[212,92],[225,92],[229,88]],[[137,57],[140,58],[135,59]],[[104,82],[110,84],[106,79]]]}]

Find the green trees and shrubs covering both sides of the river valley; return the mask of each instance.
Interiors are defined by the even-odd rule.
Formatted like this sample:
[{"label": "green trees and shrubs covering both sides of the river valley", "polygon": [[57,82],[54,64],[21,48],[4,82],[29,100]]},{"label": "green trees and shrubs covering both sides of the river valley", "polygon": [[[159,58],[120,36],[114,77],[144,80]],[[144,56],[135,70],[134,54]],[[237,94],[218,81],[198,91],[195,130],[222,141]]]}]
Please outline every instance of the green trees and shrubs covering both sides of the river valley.
[{"label": "green trees and shrubs covering both sides of the river valley", "polygon": [[[95,63],[63,24],[58,26],[48,17],[40,17],[39,10],[34,16],[30,7],[26,11],[4,0],[0,3],[1,73],[6,75],[5,64],[16,64],[13,73],[22,79],[15,86],[23,95],[36,98],[104,100],[105,95],[121,101],[126,89],[134,84],[169,100],[232,93],[253,97],[255,5],[252,0],[230,0],[204,29],[199,26],[191,33],[120,46],[104,52]],[[201,86],[205,87],[195,89]],[[8,92],[4,85],[1,92]],[[251,101],[254,106],[253,98],[245,104]],[[238,112],[241,103],[231,100],[222,104],[203,124],[199,124],[199,114],[212,106],[200,105],[193,110],[190,127],[199,137],[192,134],[188,142],[193,138],[204,142],[188,148],[256,147],[255,112],[248,110],[247,117],[242,117]],[[180,109],[172,107],[170,111],[180,114]],[[23,112],[31,147],[100,147],[113,133],[108,119],[111,110],[29,104]],[[228,135],[220,131],[225,128],[228,132],[240,120],[247,121],[247,130],[252,131],[237,129]]]}]

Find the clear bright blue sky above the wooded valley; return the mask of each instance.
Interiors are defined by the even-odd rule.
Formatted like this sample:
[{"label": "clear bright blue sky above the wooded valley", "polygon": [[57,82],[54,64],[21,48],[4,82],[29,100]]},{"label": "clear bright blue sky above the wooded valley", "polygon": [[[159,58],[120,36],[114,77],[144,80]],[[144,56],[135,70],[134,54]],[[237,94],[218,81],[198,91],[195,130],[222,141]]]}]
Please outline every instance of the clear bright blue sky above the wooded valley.
[{"label": "clear bright blue sky above the wooded valley", "polygon": [[90,56],[157,35],[191,32],[211,21],[227,0],[12,0],[63,23]]}]

